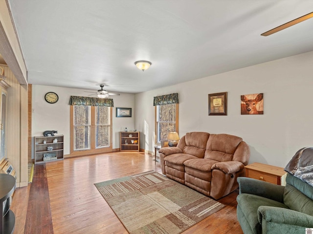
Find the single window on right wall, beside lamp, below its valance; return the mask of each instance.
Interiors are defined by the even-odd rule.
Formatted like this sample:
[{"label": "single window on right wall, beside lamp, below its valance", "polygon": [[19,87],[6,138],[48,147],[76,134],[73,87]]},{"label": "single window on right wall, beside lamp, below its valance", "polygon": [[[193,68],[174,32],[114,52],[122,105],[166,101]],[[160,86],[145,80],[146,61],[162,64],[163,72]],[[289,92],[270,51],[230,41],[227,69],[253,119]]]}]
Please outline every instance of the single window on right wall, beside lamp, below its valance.
[{"label": "single window on right wall, beside lamp, below its valance", "polygon": [[156,105],[156,141],[166,141],[169,132],[178,132],[178,105]]}]

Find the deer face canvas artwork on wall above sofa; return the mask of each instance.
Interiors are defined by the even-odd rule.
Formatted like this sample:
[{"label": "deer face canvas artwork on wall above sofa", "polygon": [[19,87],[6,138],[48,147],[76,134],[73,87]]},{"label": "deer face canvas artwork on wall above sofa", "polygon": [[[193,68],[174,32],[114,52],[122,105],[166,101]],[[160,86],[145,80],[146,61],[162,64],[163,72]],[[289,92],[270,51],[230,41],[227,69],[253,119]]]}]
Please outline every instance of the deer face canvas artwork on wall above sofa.
[{"label": "deer face canvas artwork on wall above sofa", "polygon": [[264,97],[263,94],[249,94],[241,96],[242,115],[263,115]]}]

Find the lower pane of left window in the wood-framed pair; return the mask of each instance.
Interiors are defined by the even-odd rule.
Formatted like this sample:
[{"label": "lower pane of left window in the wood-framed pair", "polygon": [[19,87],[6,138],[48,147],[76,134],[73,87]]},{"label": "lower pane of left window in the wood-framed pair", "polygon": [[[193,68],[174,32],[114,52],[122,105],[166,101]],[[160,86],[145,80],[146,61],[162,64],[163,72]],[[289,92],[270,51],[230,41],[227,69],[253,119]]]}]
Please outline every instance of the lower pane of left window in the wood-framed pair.
[{"label": "lower pane of left window in the wood-framed pair", "polygon": [[74,126],[74,150],[90,149],[89,126]]}]

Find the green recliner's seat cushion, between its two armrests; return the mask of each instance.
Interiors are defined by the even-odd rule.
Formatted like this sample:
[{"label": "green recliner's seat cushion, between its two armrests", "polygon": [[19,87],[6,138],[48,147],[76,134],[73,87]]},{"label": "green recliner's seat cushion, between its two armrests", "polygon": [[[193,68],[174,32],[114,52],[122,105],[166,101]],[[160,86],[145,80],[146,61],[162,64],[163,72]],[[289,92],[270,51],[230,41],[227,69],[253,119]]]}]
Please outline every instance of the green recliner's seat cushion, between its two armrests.
[{"label": "green recliner's seat cushion, between its two armrests", "polygon": [[289,209],[288,206],[281,202],[253,194],[240,194],[237,196],[237,202],[238,208],[243,211],[243,213],[238,216],[238,219],[248,223],[253,233],[261,233],[262,230],[261,224],[258,220],[258,208],[260,206],[272,206]]}]

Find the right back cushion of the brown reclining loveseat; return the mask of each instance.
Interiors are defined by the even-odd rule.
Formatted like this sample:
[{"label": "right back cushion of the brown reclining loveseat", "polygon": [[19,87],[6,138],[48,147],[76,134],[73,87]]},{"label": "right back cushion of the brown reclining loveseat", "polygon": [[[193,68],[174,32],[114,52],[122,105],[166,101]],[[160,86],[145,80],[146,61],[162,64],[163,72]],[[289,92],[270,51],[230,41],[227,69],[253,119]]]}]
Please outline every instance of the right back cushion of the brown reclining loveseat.
[{"label": "right back cushion of the brown reclining loveseat", "polygon": [[211,134],[204,153],[204,158],[224,162],[232,161],[238,145],[243,141],[241,137],[228,134]]}]

